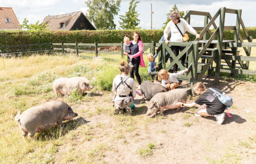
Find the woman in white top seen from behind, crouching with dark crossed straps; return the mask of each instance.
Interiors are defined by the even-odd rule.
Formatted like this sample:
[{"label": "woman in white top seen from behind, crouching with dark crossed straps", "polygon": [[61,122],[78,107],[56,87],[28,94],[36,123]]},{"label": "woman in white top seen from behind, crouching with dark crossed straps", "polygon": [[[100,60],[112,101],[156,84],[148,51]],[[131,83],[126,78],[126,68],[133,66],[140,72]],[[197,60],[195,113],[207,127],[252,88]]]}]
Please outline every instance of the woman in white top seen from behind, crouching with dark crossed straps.
[{"label": "woman in white top seen from behind, crouching with dark crossed straps", "polygon": [[128,63],[122,61],[119,66],[120,74],[116,75],[113,80],[112,91],[114,92],[114,104],[116,106],[115,113],[118,114],[120,109],[131,114],[130,105],[133,103],[133,98],[136,96],[135,82],[128,77],[131,67]]}]

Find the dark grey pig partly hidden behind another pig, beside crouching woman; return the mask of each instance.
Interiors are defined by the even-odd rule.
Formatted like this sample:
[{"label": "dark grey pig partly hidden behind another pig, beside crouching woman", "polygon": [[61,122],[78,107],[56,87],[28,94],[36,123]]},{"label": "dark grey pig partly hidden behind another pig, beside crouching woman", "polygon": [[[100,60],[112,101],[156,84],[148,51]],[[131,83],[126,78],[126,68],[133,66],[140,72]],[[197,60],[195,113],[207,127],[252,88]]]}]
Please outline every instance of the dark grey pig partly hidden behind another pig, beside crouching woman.
[{"label": "dark grey pig partly hidden behind another pig, beside crouching woman", "polygon": [[140,85],[140,92],[147,100],[150,100],[155,94],[159,92],[167,92],[168,88],[152,83],[151,81],[143,81]]}]

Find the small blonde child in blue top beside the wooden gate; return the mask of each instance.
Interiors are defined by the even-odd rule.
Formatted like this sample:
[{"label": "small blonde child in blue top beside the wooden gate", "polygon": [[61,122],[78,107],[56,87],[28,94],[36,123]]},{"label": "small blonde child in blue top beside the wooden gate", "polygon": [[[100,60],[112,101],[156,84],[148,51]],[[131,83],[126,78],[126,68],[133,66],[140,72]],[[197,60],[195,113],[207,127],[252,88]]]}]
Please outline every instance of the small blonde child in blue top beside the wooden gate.
[{"label": "small blonde child in blue top beside the wooden gate", "polygon": [[158,68],[158,66],[156,66],[156,63],[155,63],[155,58],[157,58],[157,55],[158,54],[153,56],[153,54],[151,54],[151,53],[149,53],[147,55],[147,58],[148,58],[148,74],[151,76],[152,81],[154,81],[154,75],[155,75],[156,78],[155,78],[154,83],[159,83],[160,84],[161,82],[158,81],[158,78],[157,78],[158,77],[158,72],[155,71],[156,68]]}]

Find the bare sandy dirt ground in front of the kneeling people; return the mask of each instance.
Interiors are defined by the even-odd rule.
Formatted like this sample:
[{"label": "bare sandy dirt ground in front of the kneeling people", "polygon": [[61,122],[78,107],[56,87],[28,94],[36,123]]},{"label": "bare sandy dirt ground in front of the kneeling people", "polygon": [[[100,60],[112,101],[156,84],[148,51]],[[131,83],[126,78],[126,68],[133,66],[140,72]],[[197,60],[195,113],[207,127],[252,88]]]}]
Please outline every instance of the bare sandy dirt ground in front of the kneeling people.
[{"label": "bare sandy dirt ground in front of the kneeling people", "polygon": [[[207,87],[215,87],[233,98],[233,106],[223,124],[214,117],[195,117],[195,110],[186,107],[180,111],[165,110],[164,116],[146,116],[145,99],[137,95],[132,116],[113,115],[109,101],[112,93],[94,95],[96,101],[73,106],[78,112],[75,129],[77,135],[71,142],[62,144],[55,154],[55,164],[70,147],[76,158],[101,164],[254,164],[256,163],[256,83],[221,80],[218,86],[214,79],[203,78]],[[190,97],[188,102],[195,101]],[[99,112],[99,108],[105,108]],[[86,112],[84,112],[86,111]],[[226,111],[225,111],[226,112]],[[91,127],[90,140],[83,134]],[[139,148],[155,147],[151,155],[141,156]],[[104,145],[104,146],[102,146]],[[98,148],[98,149],[97,149]],[[89,153],[94,152],[94,153]]]}]

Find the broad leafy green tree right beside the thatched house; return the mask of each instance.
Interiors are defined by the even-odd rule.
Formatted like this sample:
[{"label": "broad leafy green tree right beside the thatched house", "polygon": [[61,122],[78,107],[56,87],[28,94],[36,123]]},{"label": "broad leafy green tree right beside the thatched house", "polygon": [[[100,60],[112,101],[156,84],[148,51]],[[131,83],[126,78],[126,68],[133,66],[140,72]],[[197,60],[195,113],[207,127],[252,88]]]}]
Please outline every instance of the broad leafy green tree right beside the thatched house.
[{"label": "broad leafy green tree right beside the thatched house", "polygon": [[93,22],[96,29],[116,29],[114,15],[119,12],[121,0],[87,0],[86,17]]}]

